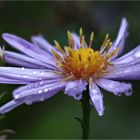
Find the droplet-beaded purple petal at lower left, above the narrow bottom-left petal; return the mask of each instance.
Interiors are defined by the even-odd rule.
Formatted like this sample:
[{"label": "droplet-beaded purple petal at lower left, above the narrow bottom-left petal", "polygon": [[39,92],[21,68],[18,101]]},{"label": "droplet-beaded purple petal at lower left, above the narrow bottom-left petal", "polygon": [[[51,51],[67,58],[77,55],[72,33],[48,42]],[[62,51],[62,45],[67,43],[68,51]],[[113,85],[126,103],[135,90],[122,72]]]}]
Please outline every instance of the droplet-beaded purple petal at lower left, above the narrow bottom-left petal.
[{"label": "droplet-beaded purple petal at lower left, above the narrow bottom-left petal", "polygon": [[[33,102],[37,99],[47,99],[65,87],[65,82],[57,81],[47,83],[47,81],[36,82],[27,86],[20,87],[13,92],[15,100],[24,100]],[[44,98],[42,98],[44,97]],[[40,101],[40,100],[39,100]]]}]

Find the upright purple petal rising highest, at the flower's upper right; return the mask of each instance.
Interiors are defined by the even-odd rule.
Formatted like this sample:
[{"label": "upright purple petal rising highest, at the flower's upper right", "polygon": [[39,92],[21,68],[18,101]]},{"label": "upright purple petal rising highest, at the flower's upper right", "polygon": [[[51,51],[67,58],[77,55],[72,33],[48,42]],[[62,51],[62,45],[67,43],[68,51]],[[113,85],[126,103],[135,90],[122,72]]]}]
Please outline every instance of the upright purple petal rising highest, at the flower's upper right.
[{"label": "upright purple petal rising highest, at the flower's upper right", "polygon": [[116,48],[119,49],[119,52],[118,52],[118,54],[115,57],[117,57],[119,54],[121,54],[123,52],[125,40],[126,40],[126,37],[128,35],[127,29],[128,29],[127,20],[125,18],[123,18],[121,26],[120,26],[120,29],[119,29],[119,32],[118,32],[117,39],[113,42],[112,47],[109,50],[109,53],[111,53]]}]

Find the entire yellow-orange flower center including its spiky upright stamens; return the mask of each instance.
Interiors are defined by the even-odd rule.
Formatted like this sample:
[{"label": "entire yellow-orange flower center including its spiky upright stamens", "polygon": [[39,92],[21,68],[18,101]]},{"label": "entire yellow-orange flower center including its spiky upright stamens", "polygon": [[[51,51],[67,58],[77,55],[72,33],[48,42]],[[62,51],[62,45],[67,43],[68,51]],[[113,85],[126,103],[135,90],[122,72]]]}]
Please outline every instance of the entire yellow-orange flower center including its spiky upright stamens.
[{"label": "entire yellow-orange flower center including its spiky upright stamens", "polygon": [[97,79],[107,72],[108,66],[111,65],[109,59],[117,51],[115,50],[111,54],[107,53],[112,45],[110,39],[108,39],[108,35],[105,37],[100,51],[94,51],[91,48],[93,35],[92,33],[89,46],[87,46],[80,30],[80,46],[78,49],[74,48],[75,42],[70,32],[68,32],[68,46],[64,48],[65,51],[55,41],[56,48],[63,54],[63,57],[55,51],[52,52],[59,60],[57,65],[63,70],[65,75],[75,79],[89,80],[90,78]]}]

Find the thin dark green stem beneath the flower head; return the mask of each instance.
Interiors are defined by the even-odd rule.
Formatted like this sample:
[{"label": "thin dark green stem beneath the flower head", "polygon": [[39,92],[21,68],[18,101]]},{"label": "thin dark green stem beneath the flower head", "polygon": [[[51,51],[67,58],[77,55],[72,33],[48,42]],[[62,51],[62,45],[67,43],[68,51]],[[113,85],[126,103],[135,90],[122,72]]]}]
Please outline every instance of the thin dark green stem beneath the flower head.
[{"label": "thin dark green stem beneath the flower head", "polygon": [[91,105],[89,102],[89,94],[85,91],[83,93],[83,98],[81,100],[82,103],[82,112],[83,112],[83,120],[82,120],[82,138],[88,139],[89,132],[90,132],[90,112],[91,112]]}]

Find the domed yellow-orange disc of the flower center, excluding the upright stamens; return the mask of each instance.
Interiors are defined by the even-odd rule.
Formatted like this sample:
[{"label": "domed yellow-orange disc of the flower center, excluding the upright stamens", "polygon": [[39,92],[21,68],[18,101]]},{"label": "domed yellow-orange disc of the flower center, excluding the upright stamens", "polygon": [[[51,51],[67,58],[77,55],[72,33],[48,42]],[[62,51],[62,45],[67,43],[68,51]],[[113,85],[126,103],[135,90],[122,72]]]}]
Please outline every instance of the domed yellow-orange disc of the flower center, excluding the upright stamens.
[{"label": "domed yellow-orange disc of the flower center, excluding the upright stamens", "polygon": [[65,57],[61,68],[75,78],[89,79],[100,77],[108,66],[108,59],[101,56],[99,51],[92,48],[66,48],[68,55]]}]

